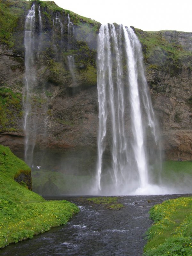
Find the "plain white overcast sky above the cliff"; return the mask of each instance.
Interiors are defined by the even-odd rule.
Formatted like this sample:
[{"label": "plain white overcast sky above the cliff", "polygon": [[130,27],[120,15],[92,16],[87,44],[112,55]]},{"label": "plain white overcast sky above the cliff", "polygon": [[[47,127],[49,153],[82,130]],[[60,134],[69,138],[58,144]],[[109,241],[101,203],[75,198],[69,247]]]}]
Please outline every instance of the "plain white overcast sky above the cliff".
[{"label": "plain white overcast sky above the cliff", "polygon": [[192,32],[192,0],[54,0],[81,16],[145,31]]}]

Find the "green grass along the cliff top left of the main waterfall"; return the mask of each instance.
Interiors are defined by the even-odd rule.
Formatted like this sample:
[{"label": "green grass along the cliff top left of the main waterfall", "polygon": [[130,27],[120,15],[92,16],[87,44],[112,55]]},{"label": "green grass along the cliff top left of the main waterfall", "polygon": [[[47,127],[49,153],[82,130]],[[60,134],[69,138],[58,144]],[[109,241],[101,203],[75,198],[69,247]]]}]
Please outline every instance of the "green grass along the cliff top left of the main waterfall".
[{"label": "green grass along the cliff top left of the main waterfall", "polygon": [[34,2],[40,5],[43,22],[45,19],[52,22],[53,13],[60,12],[66,15],[66,20],[67,14],[69,14],[70,21],[75,26],[86,25],[86,30],[95,32],[100,27],[99,22],[80,16],[72,11],[64,10],[53,1],[0,0],[0,43],[14,47],[15,44],[18,44],[17,39],[20,36],[21,39],[23,38],[25,16]]}]

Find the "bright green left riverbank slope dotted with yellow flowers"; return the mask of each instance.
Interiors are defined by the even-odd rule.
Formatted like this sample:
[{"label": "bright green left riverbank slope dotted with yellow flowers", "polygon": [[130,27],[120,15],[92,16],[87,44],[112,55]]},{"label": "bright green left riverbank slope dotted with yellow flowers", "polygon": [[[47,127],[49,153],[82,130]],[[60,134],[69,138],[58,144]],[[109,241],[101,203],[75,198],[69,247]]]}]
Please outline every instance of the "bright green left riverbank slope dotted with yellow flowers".
[{"label": "bright green left riverbank slope dotted with yellow flowers", "polygon": [[0,145],[0,248],[66,224],[79,210],[66,200],[46,201],[14,180],[28,165]]}]

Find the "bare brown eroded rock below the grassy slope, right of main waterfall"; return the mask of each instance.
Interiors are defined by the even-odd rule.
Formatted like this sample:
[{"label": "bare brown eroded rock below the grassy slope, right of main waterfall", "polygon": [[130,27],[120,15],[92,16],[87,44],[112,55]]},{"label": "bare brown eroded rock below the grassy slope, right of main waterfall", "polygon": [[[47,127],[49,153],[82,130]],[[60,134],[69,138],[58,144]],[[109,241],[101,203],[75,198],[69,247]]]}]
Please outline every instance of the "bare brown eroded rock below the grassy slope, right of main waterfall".
[{"label": "bare brown eroded rock below the grassy slope, right of main waterfall", "polygon": [[179,76],[170,77],[162,71],[147,73],[148,83],[158,77],[158,86],[165,93],[154,93],[151,97],[159,120],[166,157],[173,160],[192,159],[192,79],[188,69],[183,68]]}]

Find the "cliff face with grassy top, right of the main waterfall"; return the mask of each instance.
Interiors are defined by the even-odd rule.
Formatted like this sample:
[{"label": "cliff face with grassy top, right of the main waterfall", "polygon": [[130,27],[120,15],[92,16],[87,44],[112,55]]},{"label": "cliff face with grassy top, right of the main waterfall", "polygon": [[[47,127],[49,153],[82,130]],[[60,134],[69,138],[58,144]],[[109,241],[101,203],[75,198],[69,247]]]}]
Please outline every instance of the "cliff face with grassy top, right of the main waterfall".
[{"label": "cliff face with grassy top, right of the main waterfall", "polygon": [[167,158],[192,159],[192,33],[136,32]]}]

